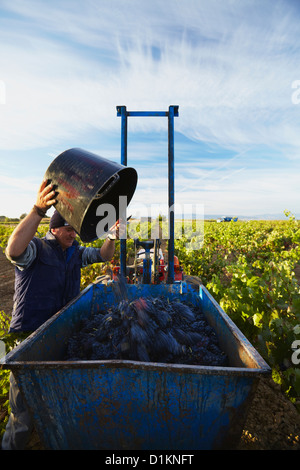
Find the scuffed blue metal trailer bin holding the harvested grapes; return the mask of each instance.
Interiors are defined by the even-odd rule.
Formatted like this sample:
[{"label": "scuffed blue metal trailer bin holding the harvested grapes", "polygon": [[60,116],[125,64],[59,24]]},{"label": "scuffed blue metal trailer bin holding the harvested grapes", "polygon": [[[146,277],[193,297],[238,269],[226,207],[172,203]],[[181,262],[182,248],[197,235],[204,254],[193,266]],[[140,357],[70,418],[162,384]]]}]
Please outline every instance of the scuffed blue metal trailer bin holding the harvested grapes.
[{"label": "scuffed blue metal trailer bin holding the harvested grapes", "polygon": [[61,360],[80,318],[111,305],[111,286],[92,285],[2,360],[11,369],[49,449],[233,448],[268,365],[201,286],[128,286],[128,296],[199,303],[230,367]]}]

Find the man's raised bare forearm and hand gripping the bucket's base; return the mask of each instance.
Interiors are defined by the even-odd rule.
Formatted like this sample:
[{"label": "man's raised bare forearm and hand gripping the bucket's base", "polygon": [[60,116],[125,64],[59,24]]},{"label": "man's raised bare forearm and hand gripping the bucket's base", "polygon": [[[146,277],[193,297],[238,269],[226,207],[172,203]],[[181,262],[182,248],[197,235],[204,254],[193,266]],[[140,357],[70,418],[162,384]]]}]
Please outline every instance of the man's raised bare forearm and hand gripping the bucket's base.
[{"label": "man's raised bare forearm and hand gripping the bucket's base", "polygon": [[56,202],[54,196],[52,184],[47,185],[47,180],[44,180],[38,191],[36,205],[15,228],[8,240],[6,254],[10,258],[17,258],[24,253],[47,210]]}]

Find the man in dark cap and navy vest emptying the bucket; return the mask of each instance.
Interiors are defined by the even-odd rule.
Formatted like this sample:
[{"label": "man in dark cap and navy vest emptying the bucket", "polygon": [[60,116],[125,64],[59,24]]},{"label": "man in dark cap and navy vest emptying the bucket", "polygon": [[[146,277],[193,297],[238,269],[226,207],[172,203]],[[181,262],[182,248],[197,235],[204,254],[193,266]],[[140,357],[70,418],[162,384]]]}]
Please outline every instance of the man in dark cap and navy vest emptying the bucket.
[{"label": "man in dark cap and navy vest emptying the bucket", "polygon": [[[6,256],[16,266],[10,332],[36,330],[79,294],[83,266],[108,261],[114,254],[118,223],[100,249],[80,246],[75,230],[57,211],[46,236],[35,237],[42,218],[55,202],[52,185],[43,181],[36,204],[8,240]],[[11,415],[2,449],[24,449],[32,430],[31,417],[12,374],[10,382]]]}]

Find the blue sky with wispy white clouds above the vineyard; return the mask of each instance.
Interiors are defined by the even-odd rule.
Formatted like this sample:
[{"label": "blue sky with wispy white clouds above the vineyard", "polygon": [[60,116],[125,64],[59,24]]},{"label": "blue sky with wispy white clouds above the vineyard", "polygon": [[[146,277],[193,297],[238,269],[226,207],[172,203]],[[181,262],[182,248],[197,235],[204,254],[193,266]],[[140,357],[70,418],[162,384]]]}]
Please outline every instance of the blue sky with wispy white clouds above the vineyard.
[{"label": "blue sky with wispy white clouds above the vineyard", "polygon": [[[179,106],[179,206],[299,214],[299,23],[298,0],[0,0],[0,215],[66,149],[120,162],[118,105]],[[133,215],[167,204],[167,152],[165,117],[129,117]]]}]

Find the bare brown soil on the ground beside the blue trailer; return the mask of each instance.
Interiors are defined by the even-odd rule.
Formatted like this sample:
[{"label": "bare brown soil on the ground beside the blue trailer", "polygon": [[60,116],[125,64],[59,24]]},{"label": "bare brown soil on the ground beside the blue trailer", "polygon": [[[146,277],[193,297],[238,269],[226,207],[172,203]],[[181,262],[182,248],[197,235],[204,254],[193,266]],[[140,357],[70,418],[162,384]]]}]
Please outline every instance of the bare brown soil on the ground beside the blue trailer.
[{"label": "bare brown soil on the ground beside the blue trailer", "polygon": [[[0,311],[10,314],[13,292],[14,268],[0,250]],[[36,433],[28,449],[43,449]],[[238,449],[300,450],[300,414],[270,378],[259,381]]]}]

